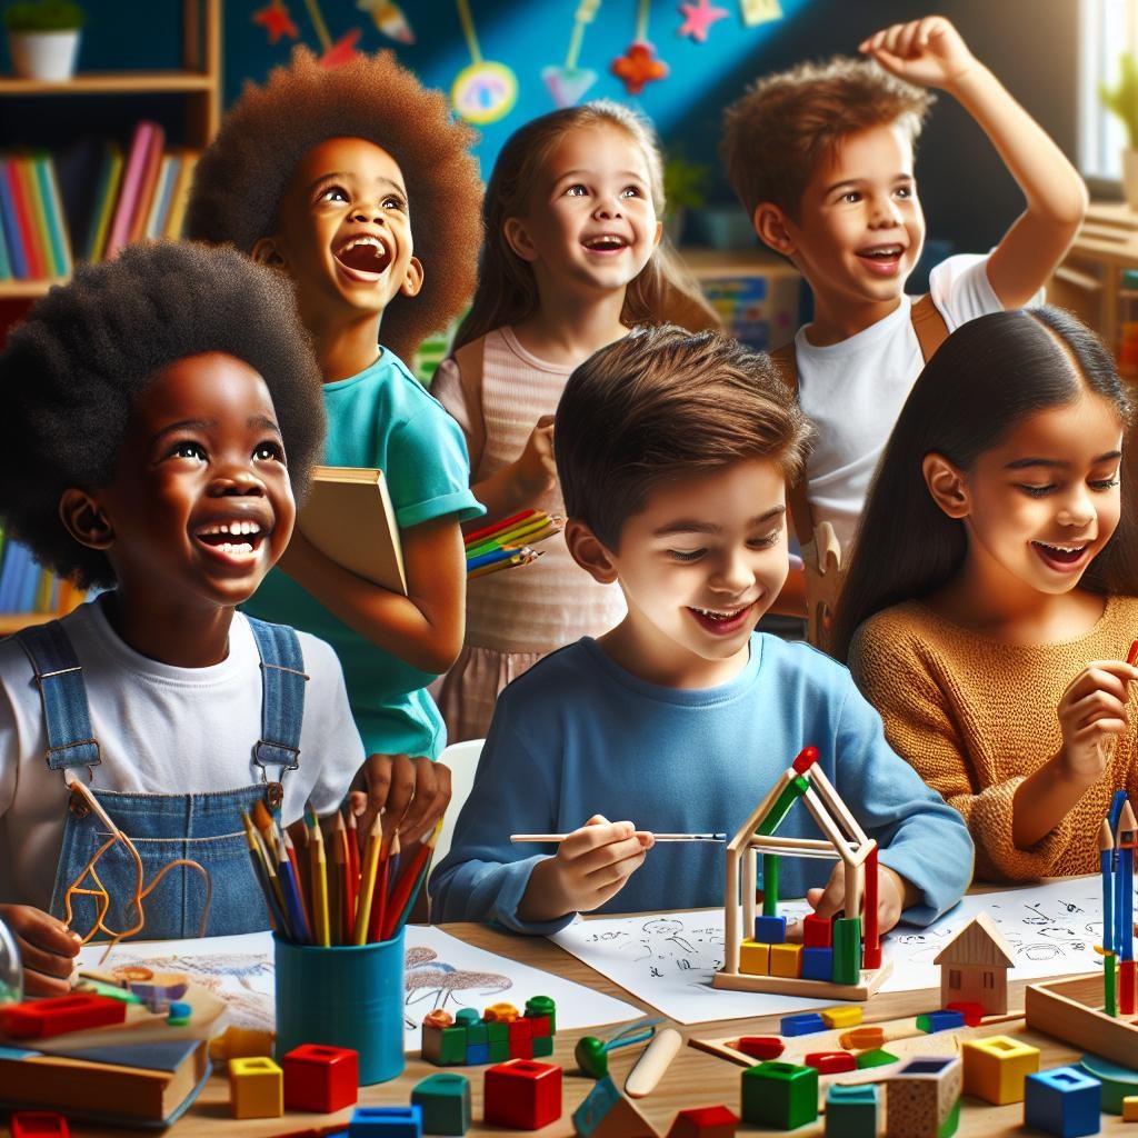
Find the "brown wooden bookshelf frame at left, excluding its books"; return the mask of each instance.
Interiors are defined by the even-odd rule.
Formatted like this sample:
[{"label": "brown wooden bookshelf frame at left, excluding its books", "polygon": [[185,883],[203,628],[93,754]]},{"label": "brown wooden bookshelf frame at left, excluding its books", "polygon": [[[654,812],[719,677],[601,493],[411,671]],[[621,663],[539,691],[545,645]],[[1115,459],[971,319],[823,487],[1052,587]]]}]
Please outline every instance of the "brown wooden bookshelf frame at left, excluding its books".
[{"label": "brown wooden bookshelf frame at left, excluding its books", "polygon": [[[173,3],[175,0],[166,0]],[[139,97],[160,96],[176,100],[182,146],[201,150],[217,131],[222,112],[221,30],[222,0],[176,0],[181,7],[181,66],[162,69],[81,72],[69,80],[44,82],[0,76],[0,100],[69,99],[106,100],[109,123],[122,126],[133,116],[124,106]],[[171,59],[164,63],[171,63]],[[102,104],[98,104],[102,114]],[[6,104],[2,107],[8,110]],[[69,122],[68,122],[69,127]],[[108,133],[112,131],[108,129]],[[18,319],[26,306],[61,281],[59,277],[0,280],[0,306],[10,303],[10,315]],[[0,333],[0,341],[3,336]],[[76,595],[59,589],[64,600],[60,612],[73,607]],[[8,636],[27,625],[43,624],[60,612],[0,612],[0,636]]]}]

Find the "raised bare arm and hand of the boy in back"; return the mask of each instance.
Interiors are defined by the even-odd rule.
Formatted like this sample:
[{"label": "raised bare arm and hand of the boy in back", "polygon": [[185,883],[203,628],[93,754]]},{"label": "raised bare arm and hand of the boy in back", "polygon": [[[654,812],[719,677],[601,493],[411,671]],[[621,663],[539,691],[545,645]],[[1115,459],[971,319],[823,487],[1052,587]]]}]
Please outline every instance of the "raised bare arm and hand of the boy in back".
[{"label": "raised bare arm and hand of the boy in back", "polygon": [[1087,211],[1078,171],[943,16],[883,28],[860,50],[899,79],[947,91],[991,140],[1028,207],[992,253],[988,279],[1006,308],[1026,304],[1063,259]]}]

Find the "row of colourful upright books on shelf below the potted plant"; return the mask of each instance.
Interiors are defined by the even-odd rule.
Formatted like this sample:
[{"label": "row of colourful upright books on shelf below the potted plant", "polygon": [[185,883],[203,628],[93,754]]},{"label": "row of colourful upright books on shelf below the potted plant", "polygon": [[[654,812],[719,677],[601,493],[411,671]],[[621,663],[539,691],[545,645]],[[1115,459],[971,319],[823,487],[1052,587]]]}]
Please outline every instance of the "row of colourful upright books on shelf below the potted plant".
[{"label": "row of colourful upright books on shelf below the potted plant", "polygon": [[125,156],[115,140],[93,135],[53,154],[0,154],[0,281],[64,278],[73,261],[180,237],[197,158],[166,149],[162,126],[146,119]]}]

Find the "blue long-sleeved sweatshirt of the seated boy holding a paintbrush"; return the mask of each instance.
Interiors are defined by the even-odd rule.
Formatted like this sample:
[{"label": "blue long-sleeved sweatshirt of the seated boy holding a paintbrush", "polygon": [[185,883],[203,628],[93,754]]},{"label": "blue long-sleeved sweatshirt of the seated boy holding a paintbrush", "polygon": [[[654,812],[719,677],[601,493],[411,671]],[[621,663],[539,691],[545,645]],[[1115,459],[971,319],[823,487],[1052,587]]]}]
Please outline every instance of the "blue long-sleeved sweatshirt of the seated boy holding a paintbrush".
[{"label": "blue long-sleeved sweatshirt of the seated boy holding a paintbrush", "polygon": [[[731,838],[808,745],[877,840],[881,864],[924,894],[905,920],[929,924],[955,905],[972,880],[972,840],[960,816],[891,750],[846,668],[807,644],[756,633],[747,667],[719,687],[648,683],[589,637],[510,684],[451,852],[431,876],[432,918],[555,932],[572,914],[544,924],[518,917],[531,869],[553,849],[512,846],[511,833],[568,832],[602,814],[640,830]],[[824,836],[801,802],[778,834]],[[657,846],[597,912],[721,906],[724,852],[718,843]],[[824,885],[832,867],[781,858],[781,896]]]}]

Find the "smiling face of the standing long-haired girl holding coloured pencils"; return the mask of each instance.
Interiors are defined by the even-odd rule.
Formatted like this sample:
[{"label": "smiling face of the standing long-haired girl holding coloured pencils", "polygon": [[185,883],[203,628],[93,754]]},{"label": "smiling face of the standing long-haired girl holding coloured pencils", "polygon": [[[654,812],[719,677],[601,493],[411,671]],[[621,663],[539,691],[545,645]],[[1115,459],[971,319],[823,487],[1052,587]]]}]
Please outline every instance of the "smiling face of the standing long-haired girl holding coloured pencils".
[{"label": "smiling face of the standing long-haired girl holding coloured pencils", "polygon": [[616,125],[563,134],[542,166],[523,217],[505,237],[545,281],[577,289],[617,289],[634,280],[660,240],[648,163]]}]

